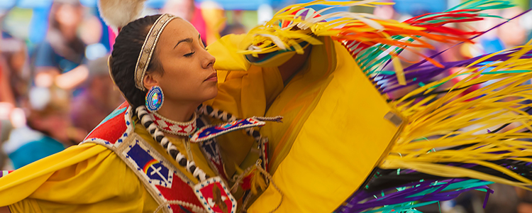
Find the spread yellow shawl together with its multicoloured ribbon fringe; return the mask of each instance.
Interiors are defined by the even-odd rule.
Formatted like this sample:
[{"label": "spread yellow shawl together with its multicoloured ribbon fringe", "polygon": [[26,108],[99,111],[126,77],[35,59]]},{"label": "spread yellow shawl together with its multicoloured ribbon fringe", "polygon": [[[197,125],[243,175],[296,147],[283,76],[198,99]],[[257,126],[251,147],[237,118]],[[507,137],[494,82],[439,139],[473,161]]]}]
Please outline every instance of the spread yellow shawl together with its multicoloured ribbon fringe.
[{"label": "spread yellow shawl together with its multicoloured ribbon fringe", "polygon": [[[407,212],[414,208],[414,203],[438,202],[445,199],[444,195],[450,199],[453,193],[474,187],[487,190],[485,185],[490,182],[530,189],[531,176],[521,172],[529,167],[521,165],[531,162],[528,139],[532,137],[529,132],[532,116],[530,104],[523,104],[530,98],[531,86],[521,84],[532,76],[529,72],[532,40],[475,61],[441,65],[443,68],[421,65],[405,76],[394,51],[400,53],[405,48],[404,38],[417,36],[412,31],[424,35],[424,31],[432,30],[423,25],[378,19],[370,23],[358,13],[322,22],[323,16],[314,17],[312,11],[302,9],[309,4],[279,10],[272,20],[253,28],[247,37],[222,38],[220,43],[225,49],[214,55],[218,61],[224,61],[221,60],[224,56],[228,58],[227,70],[253,70],[242,56],[228,53],[256,55],[259,57],[255,58],[255,64],[268,66],[282,61],[279,55],[287,49],[302,50],[301,40],[313,45],[306,67],[290,80],[265,114],[284,116],[284,119],[280,124],[270,124],[260,130],[262,136],[270,139],[268,169],[272,178],[248,212],[334,212],[337,209],[338,212]],[[467,1],[458,8],[475,11],[482,10],[486,4],[487,1]],[[431,16],[438,17],[429,14],[417,21]],[[397,28],[404,30],[405,35],[395,35]],[[250,45],[253,48],[248,48]],[[387,51],[392,52],[389,58],[383,57]],[[378,70],[387,60],[394,65],[397,82],[391,78],[391,83],[386,82],[389,84],[374,85],[370,79],[379,81],[377,73],[386,72]],[[419,82],[419,89],[401,99],[389,99],[377,90],[397,87],[407,81],[416,84],[416,77],[438,70],[436,67],[441,69],[436,73],[441,74],[450,67],[466,65],[471,70],[428,84]],[[464,74],[468,77],[455,86],[442,86]],[[499,82],[464,97],[460,95],[462,88],[490,80]],[[501,126],[511,122],[515,126],[501,131]],[[372,180],[384,179],[379,173],[382,171],[392,186],[368,189],[370,185],[379,185]],[[392,178],[399,173],[416,174],[408,182],[401,178],[394,181]],[[436,178],[426,181],[423,175]],[[404,184],[409,185],[404,187]],[[396,191],[395,187],[407,190]]]}]

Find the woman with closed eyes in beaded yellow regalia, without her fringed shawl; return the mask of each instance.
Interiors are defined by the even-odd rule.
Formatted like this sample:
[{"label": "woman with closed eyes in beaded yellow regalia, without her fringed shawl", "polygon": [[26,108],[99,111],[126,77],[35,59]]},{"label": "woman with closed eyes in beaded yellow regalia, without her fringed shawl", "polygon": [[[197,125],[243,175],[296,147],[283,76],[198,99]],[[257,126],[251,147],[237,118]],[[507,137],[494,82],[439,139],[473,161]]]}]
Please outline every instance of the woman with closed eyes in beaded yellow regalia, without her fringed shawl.
[{"label": "woman with closed eyes in beaded yellow regalia, without her fringed shawl", "polygon": [[[228,75],[231,84],[218,85],[215,58],[190,23],[169,14],[125,23],[109,65],[128,103],[81,145],[1,178],[0,206],[11,212],[235,211],[240,196],[229,192],[230,178],[260,139],[250,127],[265,120],[235,117],[265,114],[296,70]],[[201,104],[209,99],[235,116]],[[204,129],[210,118],[231,123]],[[214,140],[242,128],[256,140],[242,133]]]}]

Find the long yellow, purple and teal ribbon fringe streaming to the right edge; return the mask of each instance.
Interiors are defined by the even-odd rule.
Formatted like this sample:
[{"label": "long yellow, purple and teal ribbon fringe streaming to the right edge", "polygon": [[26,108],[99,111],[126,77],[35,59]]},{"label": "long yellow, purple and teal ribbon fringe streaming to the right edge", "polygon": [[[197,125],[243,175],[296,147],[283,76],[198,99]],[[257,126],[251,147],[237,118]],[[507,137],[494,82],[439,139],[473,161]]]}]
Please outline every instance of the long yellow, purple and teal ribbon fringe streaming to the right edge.
[{"label": "long yellow, purple and teal ribbon fringe streaming to the right edge", "polygon": [[[467,1],[461,6],[486,8],[483,4],[494,2]],[[424,17],[416,18],[426,20]],[[532,40],[510,50],[459,62],[437,63],[428,59],[431,64],[420,62],[404,70],[401,67],[398,70],[396,65],[396,72],[379,71],[387,62],[397,60],[394,54],[383,57],[382,53],[392,50],[399,54],[404,48],[379,44],[359,53],[351,51],[383,94],[413,84],[421,88],[390,100],[408,123],[389,156],[376,169],[387,174],[377,172],[369,178],[368,184],[346,200],[338,212],[419,212],[416,207],[451,200],[468,190],[490,192],[484,185],[492,182],[529,190],[532,185],[532,85],[524,83],[532,77],[531,43]],[[348,42],[344,44],[349,48]],[[428,83],[452,67],[464,68]],[[467,76],[464,80],[444,88],[445,82],[464,75]],[[485,82],[493,83],[468,94],[462,93]],[[443,182],[462,187],[436,184],[445,178],[460,178]],[[411,183],[419,180],[426,181]],[[397,187],[399,184],[406,185]]]}]

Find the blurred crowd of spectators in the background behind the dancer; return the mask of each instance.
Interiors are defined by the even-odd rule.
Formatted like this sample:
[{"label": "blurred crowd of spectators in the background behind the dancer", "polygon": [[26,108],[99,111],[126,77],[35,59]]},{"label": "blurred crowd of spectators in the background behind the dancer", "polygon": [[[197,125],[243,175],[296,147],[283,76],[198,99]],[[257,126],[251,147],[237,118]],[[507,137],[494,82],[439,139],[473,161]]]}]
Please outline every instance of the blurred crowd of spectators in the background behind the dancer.
[{"label": "blurred crowd of spectators in the background behind the dancer", "polygon": [[[490,14],[511,18],[529,8],[529,4],[522,5],[491,11]],[[399,21],[433,12],[423,9],[423,6],[408,12],[397,8],[378,6],[364,12]],[[38,42],[31,39],[33,35],[20,36],[20,33],[4,27],[13,11],[16,10],[0,13],[0,170],[21,168],[79,143],[124,101],[109,77],[107,67],[116,31],[105,25],[94,6],[84,6],[79,0],[53,0],[45,12],[48,19],[32,20],[33,25],[29,25],[30,33],[42,27],[40,23],[48,26],[43,35],[35,35],[42,38]],[[224,10],[215,1],[167,0],[162,7],[146,9],[144,13],[172,13],[187,19],[202,35],[203,42],[209,45],[221,35],[245,33],[260,20],[267,20],[273,12],[272,7],[266,7],[265,11],[253,11],[251,19],[254,21],[249,21],[249,11]],[[34,16],[38,13],[43,11],[33,11]],[[480,36],[474,44],[450,48],[436,60],[465,60],[523,45],[531,39],[530,20],[532,14],[527,13]],[[456,27],[486,31],[503,21],[501,18],[485,18],[484,21]],[[435,49],[426,50],[424,55],[433,55],[450,47],[434,45]],[[422,60],[419,55],[408,51],[401,54],[407,61]],[[408,65],[404,62],[404,67]],[[400,97],[411,89],[415,88],[401,89],[390,95]],[[426,207],[424,211],[532,212],[530,192],[504,185],[494,187],[495,194],[489,197],[486,208],[482,208],[485,193],[469,193],[450,202]]]}]

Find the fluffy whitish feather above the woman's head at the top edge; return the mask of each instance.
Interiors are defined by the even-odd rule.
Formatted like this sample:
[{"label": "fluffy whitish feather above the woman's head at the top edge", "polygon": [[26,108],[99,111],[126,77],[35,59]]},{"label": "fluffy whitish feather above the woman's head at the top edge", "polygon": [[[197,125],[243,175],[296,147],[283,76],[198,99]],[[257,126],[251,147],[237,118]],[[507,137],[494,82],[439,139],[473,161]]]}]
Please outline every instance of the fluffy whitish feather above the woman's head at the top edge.
[{"label": "fluffy whitish feather above the woman's head at the top edge", "polygon": [[101,17],[112,28],[122,28],[139,18],[146,0],[99,0]]}]

